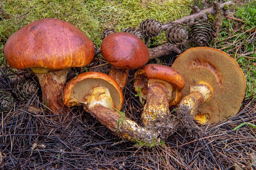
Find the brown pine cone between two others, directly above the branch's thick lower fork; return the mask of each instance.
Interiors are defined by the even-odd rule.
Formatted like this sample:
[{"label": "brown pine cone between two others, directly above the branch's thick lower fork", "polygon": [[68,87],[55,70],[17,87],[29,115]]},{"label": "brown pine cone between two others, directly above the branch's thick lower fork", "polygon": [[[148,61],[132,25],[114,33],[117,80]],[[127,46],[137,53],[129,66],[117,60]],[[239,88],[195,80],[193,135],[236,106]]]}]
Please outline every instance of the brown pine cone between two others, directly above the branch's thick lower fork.
[{"label": "brown pine cone between two others, directly above the branch's thick lower fork", "polygon": [[174,24],[166,30],[166,38],[172,44],[181,44],[188,39],[188,30],[179,24]]}]

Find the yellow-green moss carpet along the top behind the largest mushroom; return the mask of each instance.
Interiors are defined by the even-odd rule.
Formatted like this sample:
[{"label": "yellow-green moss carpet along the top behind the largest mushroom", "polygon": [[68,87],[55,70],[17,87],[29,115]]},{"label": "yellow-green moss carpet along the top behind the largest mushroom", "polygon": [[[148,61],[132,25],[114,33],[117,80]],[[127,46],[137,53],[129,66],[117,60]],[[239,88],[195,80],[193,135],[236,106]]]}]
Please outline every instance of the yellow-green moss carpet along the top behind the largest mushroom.
[{"label": "yellow-green moss carpet along the top behind the largest mushroom", "polygon": [[[28,15],[0,23],[0,47],[15,31],[41,18],[59,18],[82,30],[99,47],[101,33],[106,28],[121,31],[129,26],[139,27],[142,20],[155,18],[160,22],[179,19],[190,14],[190,0],[4,0],[1,11],[4,19],[15,18],[29,11]],[[161,34],[154,43],[166,40]],[[0,57],[3,53],[0,52]]]}]

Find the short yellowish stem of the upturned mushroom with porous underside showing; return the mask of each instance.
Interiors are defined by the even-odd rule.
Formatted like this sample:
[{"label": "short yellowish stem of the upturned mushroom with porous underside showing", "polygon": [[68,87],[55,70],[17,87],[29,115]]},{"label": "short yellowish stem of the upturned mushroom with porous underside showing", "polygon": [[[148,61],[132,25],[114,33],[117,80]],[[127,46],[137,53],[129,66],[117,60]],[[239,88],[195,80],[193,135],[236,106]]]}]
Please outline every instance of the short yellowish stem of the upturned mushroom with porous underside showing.
[{"label": "short yellowish stem of the upturned mushroom with porous underside showing", "polygon": [[[186,107],[188,114],[195,116],[197,114],[198,106],[210,100],[212,91],[211,88],[206,84],[196,84],[195,86],[189,85],[189,87],[190,93],[181,99],[179,108]],[[198,115],[196,117],[200,119],[199,121],[205,122],[207,116],[208,115]]]}]

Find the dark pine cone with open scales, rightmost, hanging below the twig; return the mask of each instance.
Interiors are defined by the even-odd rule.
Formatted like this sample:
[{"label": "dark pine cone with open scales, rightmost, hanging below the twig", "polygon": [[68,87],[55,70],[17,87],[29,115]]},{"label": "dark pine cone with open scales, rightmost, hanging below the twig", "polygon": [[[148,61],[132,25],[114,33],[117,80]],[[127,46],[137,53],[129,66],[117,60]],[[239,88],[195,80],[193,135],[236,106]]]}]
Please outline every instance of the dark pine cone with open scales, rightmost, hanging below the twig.
[{"label": "dark pine cone with open scales, rightmost, hanging below the twig", "polygon": [[209,41],[212,38],[212,24],[203,20],[196,20],[191,26],[191,37],[196,45],[209,46]]}]

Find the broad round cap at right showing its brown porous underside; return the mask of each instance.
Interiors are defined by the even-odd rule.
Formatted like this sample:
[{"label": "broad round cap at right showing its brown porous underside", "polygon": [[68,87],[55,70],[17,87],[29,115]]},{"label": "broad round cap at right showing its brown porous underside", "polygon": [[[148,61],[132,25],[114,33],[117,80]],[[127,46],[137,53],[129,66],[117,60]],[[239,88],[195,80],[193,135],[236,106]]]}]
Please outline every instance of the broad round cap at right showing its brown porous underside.
[{"label": "broad round cap at right showing its brown porous underside", "polygon": [[172,67],[185,79],[182,97],[189,94],[189,85],[205,83],[212,89],[210,100],[198,107],[198,114],[210,115],[208,123],[222,121],[239,111],[245,78],[236,60],[227,53],[209,47],[189,48]]}]

